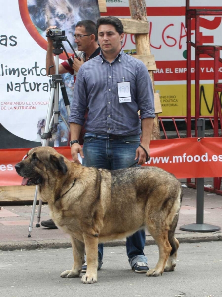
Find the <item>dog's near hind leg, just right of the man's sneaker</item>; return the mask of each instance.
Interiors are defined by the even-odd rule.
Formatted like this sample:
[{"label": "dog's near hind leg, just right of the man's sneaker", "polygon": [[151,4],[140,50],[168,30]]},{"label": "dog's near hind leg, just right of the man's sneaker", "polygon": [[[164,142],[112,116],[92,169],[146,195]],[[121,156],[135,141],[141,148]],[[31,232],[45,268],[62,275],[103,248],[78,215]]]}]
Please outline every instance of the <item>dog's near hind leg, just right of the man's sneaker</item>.
[{"label": "dog's near hind leg, just right of the man's sneaker", "polygon": [[171,245],[168,241],[167,230],[158,230],[157,228],[148,227],[149,233],[154,238],[158,248],[159,248],[159,260],[154,269],[150,269],[147,272],[147,276],[160,276],[163,273],[164,267],[166,265],[167,259],[169,258]]}]

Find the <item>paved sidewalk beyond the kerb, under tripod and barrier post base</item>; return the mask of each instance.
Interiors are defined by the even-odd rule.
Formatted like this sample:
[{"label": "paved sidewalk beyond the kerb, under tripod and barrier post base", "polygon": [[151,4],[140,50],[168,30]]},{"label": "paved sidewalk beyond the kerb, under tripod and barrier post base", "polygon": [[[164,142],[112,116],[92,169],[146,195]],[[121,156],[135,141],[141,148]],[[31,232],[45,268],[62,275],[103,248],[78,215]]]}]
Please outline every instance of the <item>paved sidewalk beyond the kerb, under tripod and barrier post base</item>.
[{"label": "paved sidewalk beyond the kerb, under tripod and barrier post base", "polygon": [[[181,180],[185,185],[185,180]],[[211,185],[212,180],[205,179],[205,185]],[[183,187],[184,197],[180,210],[176,236],[180,242],[201,242],[222,240],[222,231],[187,232],[180,226],[196,223],[196,190]],[[36,207],[37,213],[38,206]],[[58,229],[36,228],[35,216],[31,238],[28,238],[32,205],[2,206],[0,210],[0,249],[36,249],[71,247],[69,236]],[[49,219],[48,205],[42,206],[41,219]],[[204,192],[204,223],[222,228],[222,196]],[[146,244],[153,244],[152,237],[146,232]],[[106,246],[125,245],[125,241],[107,243]]]}]

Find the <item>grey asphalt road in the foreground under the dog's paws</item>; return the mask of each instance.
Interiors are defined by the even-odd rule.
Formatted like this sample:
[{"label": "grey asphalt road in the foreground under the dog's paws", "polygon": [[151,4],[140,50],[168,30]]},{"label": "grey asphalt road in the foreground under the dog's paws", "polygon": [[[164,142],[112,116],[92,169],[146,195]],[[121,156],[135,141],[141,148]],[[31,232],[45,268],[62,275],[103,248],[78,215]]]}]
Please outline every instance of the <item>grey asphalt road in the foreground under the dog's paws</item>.
[{"label": "grey asphalt road in the foreground under the dog's paws", "polygon": [[[145,247],[148,265],[158,260]],[[60,278],[73,263],[71,248],[0,251],[1,297],[221,297],[222,241],[182,243],[174,272],[147,277],[130,269],[123,246],[106,247],[96,284]],[[83,274],[81,274],[82,276]]]}]

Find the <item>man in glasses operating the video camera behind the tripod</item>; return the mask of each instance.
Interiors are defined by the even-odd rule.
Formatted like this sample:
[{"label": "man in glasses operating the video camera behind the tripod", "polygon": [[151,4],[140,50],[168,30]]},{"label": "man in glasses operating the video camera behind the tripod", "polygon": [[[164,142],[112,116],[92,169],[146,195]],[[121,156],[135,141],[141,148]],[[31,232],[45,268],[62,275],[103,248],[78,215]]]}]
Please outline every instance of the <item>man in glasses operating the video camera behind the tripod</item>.
[{"label": "man in glasses operating the video camera behind the tripod", "polygon": [[[55,29],[56,26],[51,26],[47,29],[47,34],[50,29]],[[81,60],[78,60],[76,57],[74,57],[74,54],[72,54],[72,58],[74,60],[73,66],[71,67],[68,61],[64,61],[61,64],[59,64],[59,74],[67,73],[74,75],[74,83],[76,80],[76,75],[81,67],[81,65],[96,57],[100,53],[100,47],[97,43],[98,35],[96,30],[96,25],[91,20],[83,20],[79,21],[76,24],[75,27],[75,34],[74,34],[75,42],[78,46],[78,51],[76,51],[78,57]],[[49,67],[54,66],[50,69],[51,74],[55,74],[55,60],[53,55],[53,44],[52,40],[48,38],[48,47],[47,47],[47,53],[46,53],[46,71],[47,75]],[[86,110],[86,109],[85,109]],[[57,229],[57,226],[53,222],[52,219],[41,221],[41,225],[46,228],[50,229]]]}]

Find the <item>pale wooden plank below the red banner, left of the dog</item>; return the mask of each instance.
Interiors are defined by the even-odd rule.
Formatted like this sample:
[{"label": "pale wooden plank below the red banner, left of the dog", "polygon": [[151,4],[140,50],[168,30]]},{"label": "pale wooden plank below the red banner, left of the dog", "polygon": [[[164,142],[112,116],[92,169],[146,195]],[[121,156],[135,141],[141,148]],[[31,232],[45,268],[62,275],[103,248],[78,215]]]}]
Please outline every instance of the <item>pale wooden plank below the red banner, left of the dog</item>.
[{"label": "pale wooden plank below the red banner, left of the dog", "polygon": [[[8,201],[32,201],[36,186],[1,186],[0,202]],[[37,198],[39,200],[39,198]]]}]

